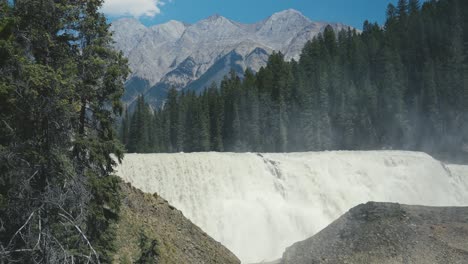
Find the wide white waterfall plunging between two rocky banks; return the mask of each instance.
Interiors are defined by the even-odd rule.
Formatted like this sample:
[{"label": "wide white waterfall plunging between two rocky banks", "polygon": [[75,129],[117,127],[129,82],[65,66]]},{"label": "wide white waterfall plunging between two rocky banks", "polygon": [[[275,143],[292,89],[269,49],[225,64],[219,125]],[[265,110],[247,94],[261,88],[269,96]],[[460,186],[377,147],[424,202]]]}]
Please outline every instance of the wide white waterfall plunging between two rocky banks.
[{"label": "wide white waterfall plunging between two rocky banks", "polygon": [[359,203],[468,205],[468,169],[416,152],[133,154],[118,174],[245,263],[281,257]]}]

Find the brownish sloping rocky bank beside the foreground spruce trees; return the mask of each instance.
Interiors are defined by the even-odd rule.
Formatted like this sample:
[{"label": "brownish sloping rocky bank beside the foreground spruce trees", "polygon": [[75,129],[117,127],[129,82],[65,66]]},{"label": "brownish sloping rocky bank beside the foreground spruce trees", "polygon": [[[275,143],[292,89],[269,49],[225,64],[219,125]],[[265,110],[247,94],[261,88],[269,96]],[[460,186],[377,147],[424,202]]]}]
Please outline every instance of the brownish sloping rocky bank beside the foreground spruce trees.
[{"label": "brownish sloping rocky bank beside the foreground spruce trees", "polygon": [[122,184],[124,198],[117,225],[114,263],[135,263],[141,255],[140,234],[156,241],[151,263],[238,264],[239,259],[158,195]]}]

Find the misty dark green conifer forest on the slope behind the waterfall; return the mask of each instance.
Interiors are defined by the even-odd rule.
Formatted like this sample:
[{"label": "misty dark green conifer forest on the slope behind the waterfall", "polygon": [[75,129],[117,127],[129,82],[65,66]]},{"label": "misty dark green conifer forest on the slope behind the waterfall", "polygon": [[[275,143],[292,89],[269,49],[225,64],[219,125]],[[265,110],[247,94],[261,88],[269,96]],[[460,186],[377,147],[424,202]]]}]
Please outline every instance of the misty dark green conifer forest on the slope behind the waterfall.
[{"label": "misty dark green conifer forest on the slope behind the waterfall", "polygon": [[138,99],[124,116],[129,152],[408,149],[468,145],[468,2],[400,0],[384,25],[331,27],[299,61],[281,53],[202,94]]}]

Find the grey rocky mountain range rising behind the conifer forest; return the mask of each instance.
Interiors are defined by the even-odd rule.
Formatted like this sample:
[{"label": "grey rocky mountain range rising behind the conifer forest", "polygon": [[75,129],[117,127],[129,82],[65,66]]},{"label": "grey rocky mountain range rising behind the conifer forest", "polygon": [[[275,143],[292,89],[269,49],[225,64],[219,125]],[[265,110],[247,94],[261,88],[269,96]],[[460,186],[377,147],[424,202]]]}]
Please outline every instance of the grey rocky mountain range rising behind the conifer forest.
[{"label": "grey rocky mountain range rising behind the conifer forest", "polygon": [[286,59],[299,59],[304,44],[327,25],[314,22],[296,10],[285,10],[254,24],[242,24],[213,15],[195,24],[169,21],[146,27],[133,18],[112,23],[115,47],[129,59],[132,75],[124,101],[131,104],[143,94],[153,105],[164,100],[167,90],[202,91],[234,69],[240,75],[258,71],[273,51]]}]

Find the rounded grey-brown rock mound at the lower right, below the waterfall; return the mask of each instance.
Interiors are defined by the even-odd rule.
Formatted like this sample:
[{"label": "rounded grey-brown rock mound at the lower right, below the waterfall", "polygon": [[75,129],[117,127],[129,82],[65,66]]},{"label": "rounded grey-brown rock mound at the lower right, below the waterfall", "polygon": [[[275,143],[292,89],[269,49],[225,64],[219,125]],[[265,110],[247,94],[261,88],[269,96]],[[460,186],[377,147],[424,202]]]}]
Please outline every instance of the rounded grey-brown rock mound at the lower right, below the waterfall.
[{"label": "rounded grey-brown rock mound at the lower right, below the waterfall", "polygon": [[468,207],[359,205],[280,263],[468,263]]}]

